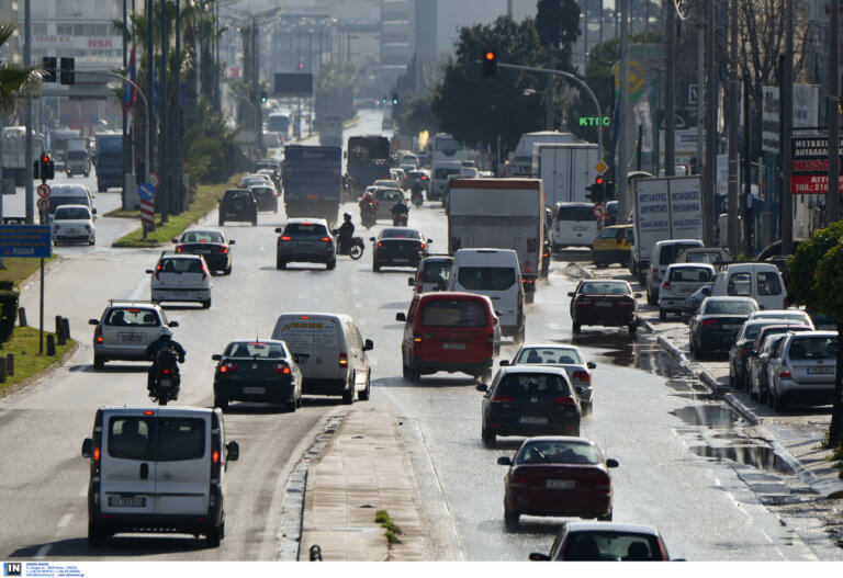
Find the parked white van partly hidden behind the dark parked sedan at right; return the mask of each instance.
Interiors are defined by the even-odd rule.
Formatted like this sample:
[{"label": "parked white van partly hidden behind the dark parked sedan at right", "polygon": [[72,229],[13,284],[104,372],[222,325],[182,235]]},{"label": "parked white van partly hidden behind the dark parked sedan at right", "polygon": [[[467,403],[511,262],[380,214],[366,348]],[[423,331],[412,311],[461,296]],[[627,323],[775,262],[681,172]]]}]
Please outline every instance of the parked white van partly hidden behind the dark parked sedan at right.
[{"label": "parked white van partly hidden behind the dark parked sedan at right", "polygon": [[752,297],[762,309],[787,308],[787,288],[773,263],[735,263],[720,271],[711,285],[711,296]]}]

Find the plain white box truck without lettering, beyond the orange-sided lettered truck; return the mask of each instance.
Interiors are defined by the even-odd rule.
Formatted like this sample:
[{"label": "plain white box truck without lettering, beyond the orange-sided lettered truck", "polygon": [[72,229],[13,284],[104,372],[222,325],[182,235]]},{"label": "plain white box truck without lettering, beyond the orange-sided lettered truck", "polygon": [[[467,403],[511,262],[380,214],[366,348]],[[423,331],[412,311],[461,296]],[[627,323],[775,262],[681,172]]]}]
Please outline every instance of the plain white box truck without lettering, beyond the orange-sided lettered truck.
[{"label": "plain white box truck without lettering, beyond the orange-sided lettered truck", "polygon": [[532,145],[532,177],[544,184],[544,202],[553,208],[557,203],[585,203],[586,188],[599,174],[594,168],[600,160],[593,143]]}]

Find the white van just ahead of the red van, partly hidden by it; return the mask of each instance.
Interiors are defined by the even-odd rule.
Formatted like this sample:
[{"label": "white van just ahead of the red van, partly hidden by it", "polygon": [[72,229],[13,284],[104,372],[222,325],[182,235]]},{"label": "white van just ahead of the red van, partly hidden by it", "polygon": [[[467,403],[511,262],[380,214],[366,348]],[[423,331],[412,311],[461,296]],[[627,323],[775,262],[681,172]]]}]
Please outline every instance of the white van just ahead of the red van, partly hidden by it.
[{"label": "white van just ahead of the red van, partly hidden by it", "polygon": [[524,285],[518,253],[512,249],[459,249],[448,279],[448,291],[486,295],[492,299],[501,331],[524,341]]}]

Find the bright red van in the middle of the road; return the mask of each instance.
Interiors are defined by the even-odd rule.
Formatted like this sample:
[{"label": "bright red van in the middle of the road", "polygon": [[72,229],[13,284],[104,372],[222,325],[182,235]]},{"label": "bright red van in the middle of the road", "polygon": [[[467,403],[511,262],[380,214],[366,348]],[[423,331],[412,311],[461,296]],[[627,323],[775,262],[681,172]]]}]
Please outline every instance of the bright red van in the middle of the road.
[{"label": "bright red van in the middle of the road", "polygon": [[404,377],[462,372],[476,378],[492,376],[499,347],[499,328],[492,301],[473,293],[439,292],[416,295],[405,316],[401,356]]}]

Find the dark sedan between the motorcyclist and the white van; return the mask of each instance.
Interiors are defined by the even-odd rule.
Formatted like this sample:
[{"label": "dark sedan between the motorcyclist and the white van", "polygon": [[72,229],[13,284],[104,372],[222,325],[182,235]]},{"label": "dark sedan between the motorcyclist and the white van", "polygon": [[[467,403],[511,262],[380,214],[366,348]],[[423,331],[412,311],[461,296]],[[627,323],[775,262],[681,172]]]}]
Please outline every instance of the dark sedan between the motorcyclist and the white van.
[{"label": "dark sedan between the motorcyclist and the white van", "polygon": [[218,362],[214,407],[225,411],[229,401],[259,401],[295,411],[302,405],[302,372],[283,341],[232,341],[211,359]]}]

